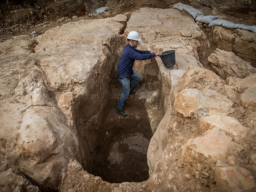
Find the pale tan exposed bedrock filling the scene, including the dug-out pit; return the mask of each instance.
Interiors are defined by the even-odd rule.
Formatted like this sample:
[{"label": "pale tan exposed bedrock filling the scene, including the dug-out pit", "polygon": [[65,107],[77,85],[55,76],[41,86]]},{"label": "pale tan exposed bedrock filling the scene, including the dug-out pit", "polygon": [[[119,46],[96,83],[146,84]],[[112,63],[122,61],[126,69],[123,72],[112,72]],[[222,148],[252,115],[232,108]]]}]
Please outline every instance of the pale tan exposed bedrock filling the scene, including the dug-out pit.
[{"label": "pale tan exposed bedrock filling the scene, including the dug-out pit", "polygon": [[[0,189],[256,190],[256,76],[245,61],[253,50],[217,49],[211,71],[198,57],[210,41],[190,17],[142,8],[127,20],[81,20],[0,43]],[[138,49],[175,50],[176,65],[136,62],[143,78],[121,117],[116,66],[132,30]]]}]

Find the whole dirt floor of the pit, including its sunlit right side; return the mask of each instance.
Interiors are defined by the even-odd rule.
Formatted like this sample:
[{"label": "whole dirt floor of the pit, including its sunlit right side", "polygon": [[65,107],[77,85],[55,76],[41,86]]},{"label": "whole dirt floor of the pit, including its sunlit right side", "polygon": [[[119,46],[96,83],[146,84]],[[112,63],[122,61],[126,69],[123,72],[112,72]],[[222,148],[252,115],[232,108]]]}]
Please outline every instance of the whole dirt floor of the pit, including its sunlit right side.
[{"label": "whole dirt floor of the pit, including its sunlit right side", "polygon": [[116,113],[122,85],[115,77],[110,83],[109,100],[101,128],[104,130],[104,139],[98,146],[91,173],[110,183],[142,182],[148,179],[148,146],[163,117],[156,64],[148,60],[137,62],[136,66],[143,79],[134,88],[137,93],[129,95],[125,102],[124,110],[128,116]]}]

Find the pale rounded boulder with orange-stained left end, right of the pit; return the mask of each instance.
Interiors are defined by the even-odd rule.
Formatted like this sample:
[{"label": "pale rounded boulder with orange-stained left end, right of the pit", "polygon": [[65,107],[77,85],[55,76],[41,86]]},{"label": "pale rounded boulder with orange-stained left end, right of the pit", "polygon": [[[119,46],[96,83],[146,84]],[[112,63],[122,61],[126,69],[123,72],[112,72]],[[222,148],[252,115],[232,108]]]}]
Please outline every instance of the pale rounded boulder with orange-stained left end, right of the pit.
[{"label": "pale rounded boulder with orange-stained left end, right of the pit", "polygon": [[175,96],[174,101],[175,110],[185,117],[228,115],[234,111],[232,105],[226,96],[209,89],[186,88]]}]

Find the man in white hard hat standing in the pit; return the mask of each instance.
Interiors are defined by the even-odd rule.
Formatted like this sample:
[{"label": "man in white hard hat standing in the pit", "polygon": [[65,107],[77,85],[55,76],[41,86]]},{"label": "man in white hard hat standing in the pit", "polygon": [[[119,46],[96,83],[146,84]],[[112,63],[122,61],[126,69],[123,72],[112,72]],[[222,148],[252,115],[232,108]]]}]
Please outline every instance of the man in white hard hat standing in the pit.
[{"label": "man in white hard hat standing in the pit", "polygon": [[[141,75],[132,69],[135,60],[147,60],[155,56],[161,55],[162,52],[154,51],[140,51],[135,49],[139,41],[141,41],[138,32],[131,31],[127,36],[128,43],[124,47],[121,58],[117,66],[117,76],[122,83],[122,94],[116,106],[116,112],[122,116],[128,114],[124,111],[124,102],[129,94],[135,94],[136,91],[132,90],[134,86],[141,80]],[[130,81],[131,80],[131,81]]]}]

